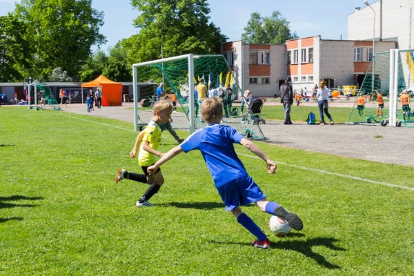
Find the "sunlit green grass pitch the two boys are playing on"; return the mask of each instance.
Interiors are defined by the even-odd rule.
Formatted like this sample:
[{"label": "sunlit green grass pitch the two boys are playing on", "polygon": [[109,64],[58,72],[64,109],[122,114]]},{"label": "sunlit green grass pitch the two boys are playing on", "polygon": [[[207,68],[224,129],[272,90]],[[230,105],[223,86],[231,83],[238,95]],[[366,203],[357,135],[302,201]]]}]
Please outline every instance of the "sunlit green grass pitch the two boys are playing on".
[{"label": "sunlit green grass pitch the two boys are playing on", "polygon": [[[199,152],[164,164],[166,183],[150,200],[156,207],[137,209],[147,186],[114,181],[120,167],[140,172],[128,157],[132,124],[0,112],[0,275],[414,274],[414,190],[290,165],[414,188],[411,167],[257,142],[283,162],[268,175],[263,161],[235,146],[268,199],[304,221],[304,230],[279,238],[270,215],[244,207],[272,242],[262,250],[224,211]],[[164,133],[160,150],[175,145]]]}]

